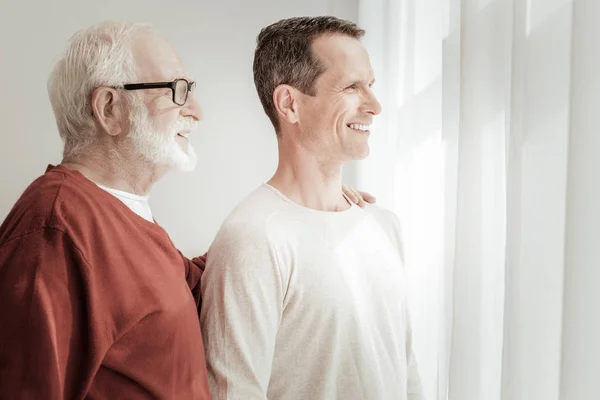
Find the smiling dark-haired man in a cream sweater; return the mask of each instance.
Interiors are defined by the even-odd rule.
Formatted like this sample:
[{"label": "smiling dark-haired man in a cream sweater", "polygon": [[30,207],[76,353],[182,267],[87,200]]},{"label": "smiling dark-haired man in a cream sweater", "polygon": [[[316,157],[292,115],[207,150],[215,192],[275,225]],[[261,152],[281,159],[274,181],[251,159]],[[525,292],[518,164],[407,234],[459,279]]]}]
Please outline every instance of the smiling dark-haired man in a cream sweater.
[{"label": "smiling dark-haired man in a cream sweater", "polygon": [[398,220],[342,192],[343,164],[369,154],[381,111],[363,33],[307,17],[258,36],[279,166],[208,253],[201,325],[216,399],[422,399]]}]

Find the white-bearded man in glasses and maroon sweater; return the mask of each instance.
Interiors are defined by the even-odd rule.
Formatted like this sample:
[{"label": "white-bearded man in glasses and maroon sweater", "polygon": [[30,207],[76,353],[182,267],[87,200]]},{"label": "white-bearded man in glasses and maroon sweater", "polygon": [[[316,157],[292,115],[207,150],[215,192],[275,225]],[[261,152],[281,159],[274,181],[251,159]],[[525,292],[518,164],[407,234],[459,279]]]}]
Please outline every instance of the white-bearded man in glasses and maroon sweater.
[{"label": "white-bearded man in glasses and maroon sweater", "polygon": [[63,161],[0,227],[2,399],[210,398],[204,261],[147,197],[196,164],[194,82],[151,27],[105,22],[73,37],[48,89]]}]

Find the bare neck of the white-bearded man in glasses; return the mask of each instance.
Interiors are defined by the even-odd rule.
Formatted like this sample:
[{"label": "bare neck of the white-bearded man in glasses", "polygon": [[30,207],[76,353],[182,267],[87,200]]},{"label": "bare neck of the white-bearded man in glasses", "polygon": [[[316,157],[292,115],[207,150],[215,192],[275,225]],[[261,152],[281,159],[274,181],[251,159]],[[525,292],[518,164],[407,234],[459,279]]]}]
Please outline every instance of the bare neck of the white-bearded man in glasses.
[{"label": "bare neck of the white-bearded man in glasses", "polygon": [[110,149],[95,149],[91,155],[65,158],[61,165],[78,171],[89,180],[117,190],[146,196],[166,173],[165,168],[145,160],[125,159]]}]

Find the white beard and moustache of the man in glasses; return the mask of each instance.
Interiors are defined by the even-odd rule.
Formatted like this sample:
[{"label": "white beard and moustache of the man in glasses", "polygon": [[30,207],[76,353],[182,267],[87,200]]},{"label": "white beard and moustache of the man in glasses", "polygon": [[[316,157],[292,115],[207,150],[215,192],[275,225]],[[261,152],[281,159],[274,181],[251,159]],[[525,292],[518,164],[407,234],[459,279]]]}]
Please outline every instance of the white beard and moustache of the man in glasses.
[{"label": "white beard and moustache of the man in glasses", "polygon": [[184,151],[175,140],[178,132],[190,132],[196,129],[197,122],[192,118],[180,117],[167,132],[158,132],[148,115],[146,106],[134,104],[131,118],[133,129],[129,139],[137,154],[153,165],[160,165],[179,171],[192,171],[198,157],[192,144],[188,142]]}]

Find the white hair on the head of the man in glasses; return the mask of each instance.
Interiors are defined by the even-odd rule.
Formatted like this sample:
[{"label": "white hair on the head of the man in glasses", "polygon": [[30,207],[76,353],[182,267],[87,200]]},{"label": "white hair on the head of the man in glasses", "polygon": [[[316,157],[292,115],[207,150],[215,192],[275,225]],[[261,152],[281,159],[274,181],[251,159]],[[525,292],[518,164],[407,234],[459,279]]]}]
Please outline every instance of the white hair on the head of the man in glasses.
[{"label": "white hair on the head of the man in glasses", "polygon": [[[77,32],[48,79],[48,94],[60,137],[63,157],[78,156],[95,142],[96,123],[91,93],[101,86],[121,87],[138,75],[131,53],[134,34],[152,31],[138,23],[107,21]],[[133,98],[133,96],[129,96]]]}]

